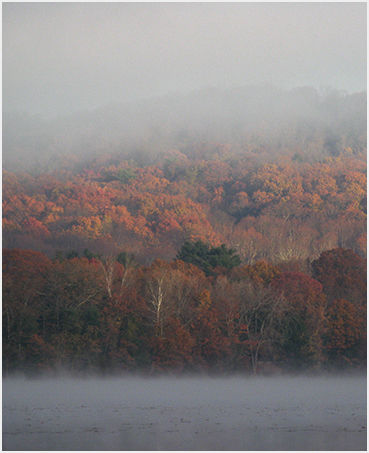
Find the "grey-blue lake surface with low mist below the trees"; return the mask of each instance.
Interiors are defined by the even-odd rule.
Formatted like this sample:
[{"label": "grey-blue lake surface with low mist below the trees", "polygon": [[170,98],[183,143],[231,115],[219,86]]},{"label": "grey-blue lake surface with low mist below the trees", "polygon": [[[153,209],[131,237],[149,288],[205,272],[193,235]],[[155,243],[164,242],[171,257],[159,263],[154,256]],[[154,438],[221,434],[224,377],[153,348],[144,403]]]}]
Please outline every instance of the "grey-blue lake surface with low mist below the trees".
[{"label": "grey-blue lake surface with low mist below the trees", "polygon": [[4,450],[366,450],[366,377],[7,378]]}]

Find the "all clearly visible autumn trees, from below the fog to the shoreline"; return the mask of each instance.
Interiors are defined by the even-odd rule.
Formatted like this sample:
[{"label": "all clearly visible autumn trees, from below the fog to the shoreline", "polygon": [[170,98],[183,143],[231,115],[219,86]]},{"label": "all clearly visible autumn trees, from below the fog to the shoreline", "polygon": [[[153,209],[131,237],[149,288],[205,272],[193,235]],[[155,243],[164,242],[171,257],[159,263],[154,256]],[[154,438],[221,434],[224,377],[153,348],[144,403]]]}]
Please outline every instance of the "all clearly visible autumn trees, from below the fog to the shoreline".
[{"label": "all clearly visible autumn trees, from below the fog to the shoreline", "polygon": [[365,159],[263,153],[4,170],[4,370],[363,366]]}]

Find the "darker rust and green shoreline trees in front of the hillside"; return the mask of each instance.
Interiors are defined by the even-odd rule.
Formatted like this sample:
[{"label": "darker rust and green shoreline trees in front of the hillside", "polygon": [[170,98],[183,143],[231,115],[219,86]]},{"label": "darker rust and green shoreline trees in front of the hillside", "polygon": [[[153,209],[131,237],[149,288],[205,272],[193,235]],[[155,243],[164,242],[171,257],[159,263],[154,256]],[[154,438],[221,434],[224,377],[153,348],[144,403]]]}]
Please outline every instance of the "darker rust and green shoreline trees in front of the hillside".
[{"label": "darker rust and green shoreline trees in front of the hillside", "polygon": [[148,266],[75,255],[3,251],[4,373],[365,368],[366,262],[350,249],[309,275],[201,241]]}]

